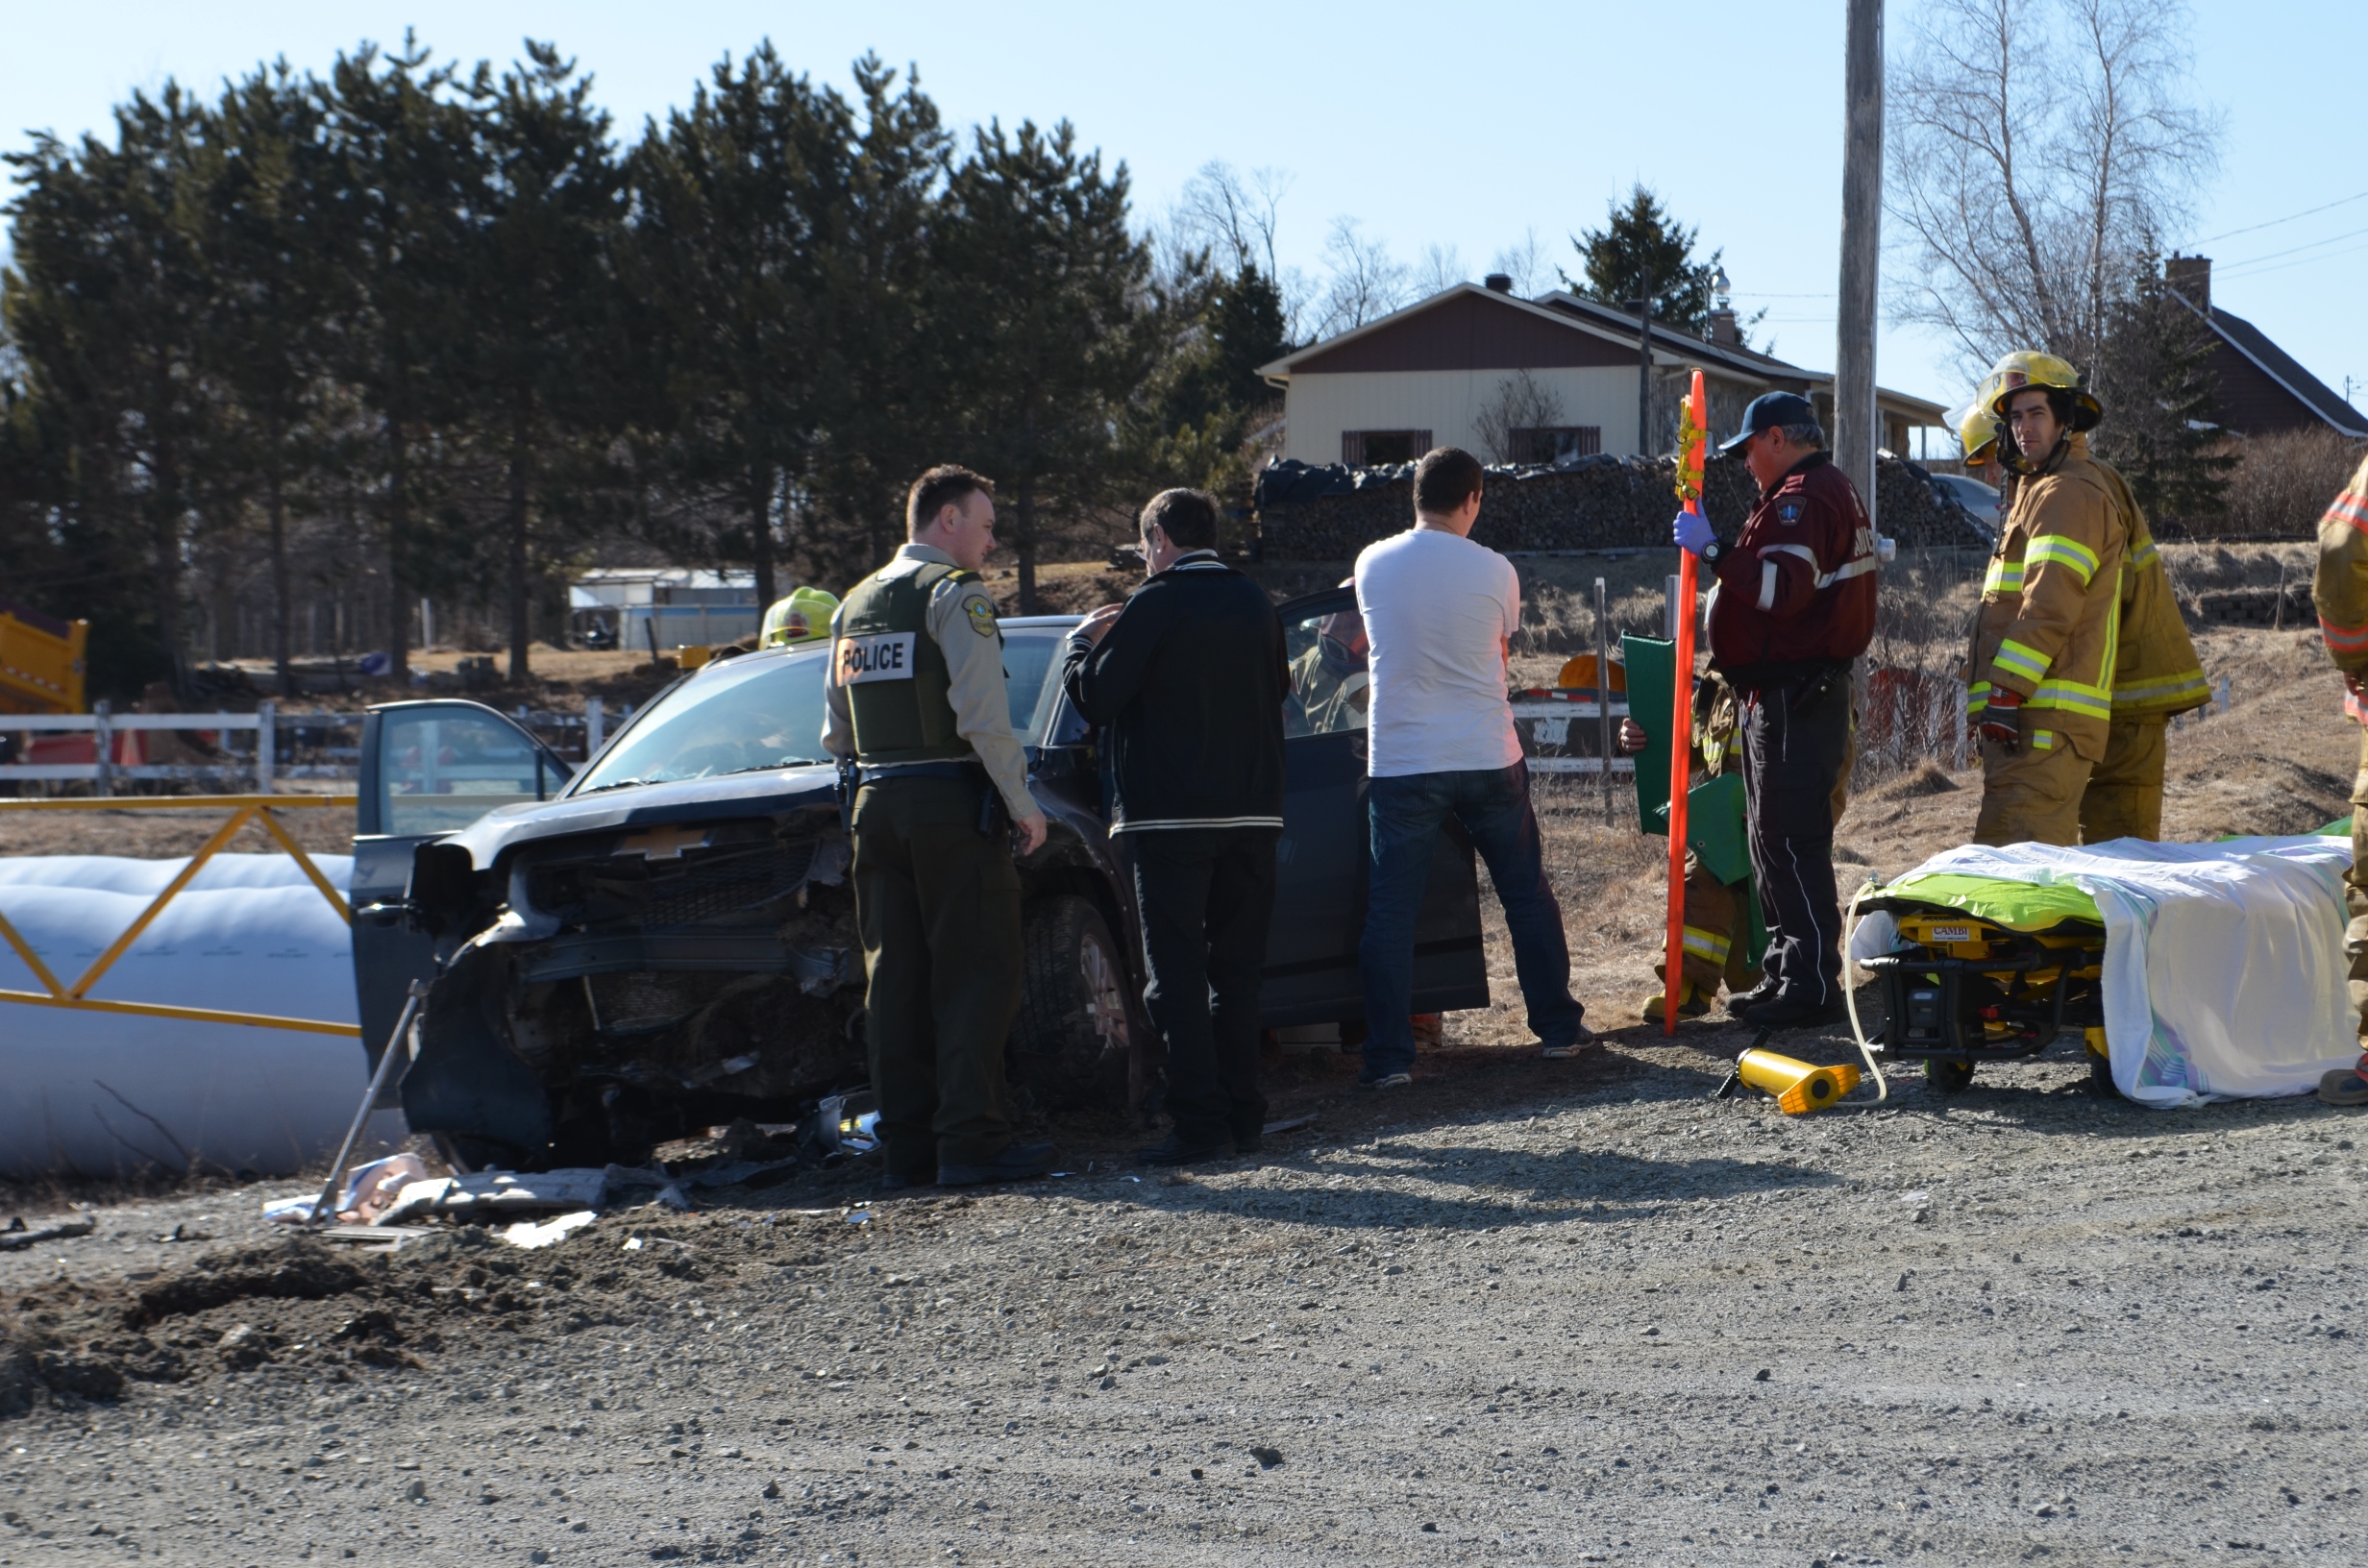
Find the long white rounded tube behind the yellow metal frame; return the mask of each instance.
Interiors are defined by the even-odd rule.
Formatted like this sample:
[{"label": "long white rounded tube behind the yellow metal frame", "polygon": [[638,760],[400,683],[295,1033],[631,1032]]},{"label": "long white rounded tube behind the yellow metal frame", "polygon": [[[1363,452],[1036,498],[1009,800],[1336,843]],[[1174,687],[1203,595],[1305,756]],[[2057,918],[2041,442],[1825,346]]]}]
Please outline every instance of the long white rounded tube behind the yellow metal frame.
[{"label": "long white rounded tube behind the yellow metal frame", "polygon": [[[0,857],[0,914],[73,985],[185,865]],[[5,943],[0,990],[43,990]],[[291,857],[215,855],[90,995],[355,1023],[353,931]],[[353,1035],[0,1002],[0,1175],[287,1175],[336,1153],[367,1082]],[[367,1144],[403,1135],[381,1111]]]}]

